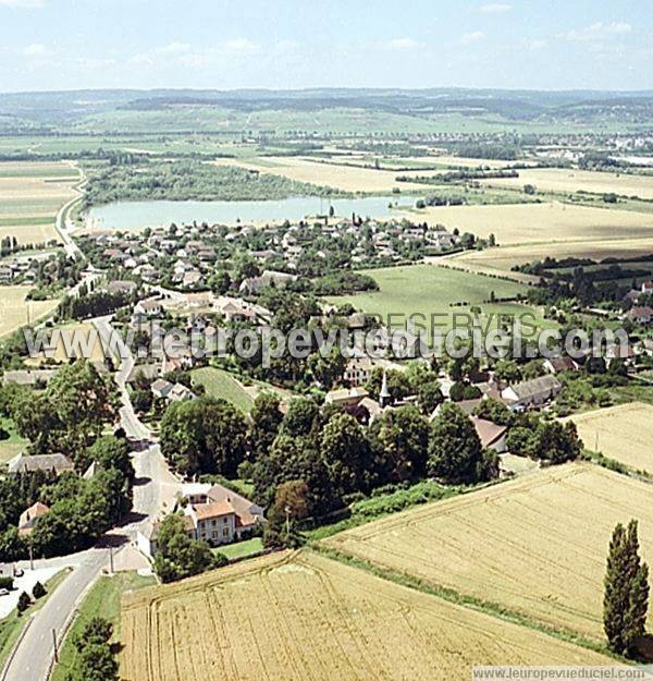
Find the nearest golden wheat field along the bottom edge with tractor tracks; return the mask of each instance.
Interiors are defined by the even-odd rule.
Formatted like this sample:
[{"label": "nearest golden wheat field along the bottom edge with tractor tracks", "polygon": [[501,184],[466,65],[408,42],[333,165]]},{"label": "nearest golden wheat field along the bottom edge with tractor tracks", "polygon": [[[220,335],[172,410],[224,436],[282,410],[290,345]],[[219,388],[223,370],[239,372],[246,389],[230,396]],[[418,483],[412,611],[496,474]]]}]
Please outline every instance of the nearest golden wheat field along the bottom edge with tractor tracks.
[{"label": "nearest golden wheat field along the bottom edge with tractor tracks", "polygon": [[312,554],[125,597],[123,681],[451,681],[476,664],[607,664],[587,649]]}]

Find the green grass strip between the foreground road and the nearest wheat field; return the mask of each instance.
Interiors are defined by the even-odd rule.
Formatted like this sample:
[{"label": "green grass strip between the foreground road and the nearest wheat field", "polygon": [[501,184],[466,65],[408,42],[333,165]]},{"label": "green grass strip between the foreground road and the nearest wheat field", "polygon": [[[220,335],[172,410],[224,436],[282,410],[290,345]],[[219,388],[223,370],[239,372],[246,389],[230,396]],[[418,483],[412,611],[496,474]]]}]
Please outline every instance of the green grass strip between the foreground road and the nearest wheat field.
[{"label": "green grass strip between the foreground road and the nearest wheat field", "polygon": [[73,645],[76,633],[83,631],[94,617],[102,617],[113,624],[113,637],[120,639],[120,606],[122,595],[156,584],[155,577],[144,577],[136,572],[119,572],[113,576],[102,576],[82,601],[73,625],[60,650],[60,662],[52,671],[51,681],[64,681],[69,671],[74,669],[77,650]]}]

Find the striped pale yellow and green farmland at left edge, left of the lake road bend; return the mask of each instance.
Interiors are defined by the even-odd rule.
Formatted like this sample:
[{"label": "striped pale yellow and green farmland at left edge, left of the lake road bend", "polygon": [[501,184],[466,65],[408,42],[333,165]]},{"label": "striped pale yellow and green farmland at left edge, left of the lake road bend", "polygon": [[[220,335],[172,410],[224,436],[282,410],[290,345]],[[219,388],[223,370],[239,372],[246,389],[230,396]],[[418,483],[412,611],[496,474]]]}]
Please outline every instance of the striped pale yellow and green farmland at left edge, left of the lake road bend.
[{"label": "striped pale yellow and green farmland at left edge, left of the lake road bend", "polygon": [[78,179],[78,171],[64,163],[0,163],[0,239],[15,236],[19,244],[58,240],[57,212],[75,196]]}]

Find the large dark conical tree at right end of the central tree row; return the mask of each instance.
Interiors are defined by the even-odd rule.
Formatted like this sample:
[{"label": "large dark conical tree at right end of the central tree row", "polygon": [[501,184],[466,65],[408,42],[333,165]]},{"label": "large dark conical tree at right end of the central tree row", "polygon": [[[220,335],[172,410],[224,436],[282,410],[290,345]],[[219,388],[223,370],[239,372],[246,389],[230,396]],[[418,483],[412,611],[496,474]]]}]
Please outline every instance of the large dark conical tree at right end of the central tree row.
[{"label": "large dark conical tree at right end of the central tree row", "polygon": [[452,484],[471,484],[482,469],[482,446],[467,414],[444,404],[431,427],[428,471]]}]

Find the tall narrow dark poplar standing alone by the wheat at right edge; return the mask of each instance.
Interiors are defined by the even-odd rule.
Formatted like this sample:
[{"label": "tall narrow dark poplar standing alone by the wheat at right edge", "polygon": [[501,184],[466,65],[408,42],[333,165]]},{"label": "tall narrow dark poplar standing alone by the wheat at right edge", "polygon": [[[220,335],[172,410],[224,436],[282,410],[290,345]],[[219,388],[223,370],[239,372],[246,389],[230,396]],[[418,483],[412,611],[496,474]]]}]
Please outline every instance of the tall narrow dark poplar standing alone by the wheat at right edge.
[{"label": "tall narrow dark poplar standing alone by the wheat at right edge", "polygon": [[639,556],[637,521],[615,527],[609,543],[603,597],[603,628],[611,650],[633,656],[649,608],[649,567]]}]

